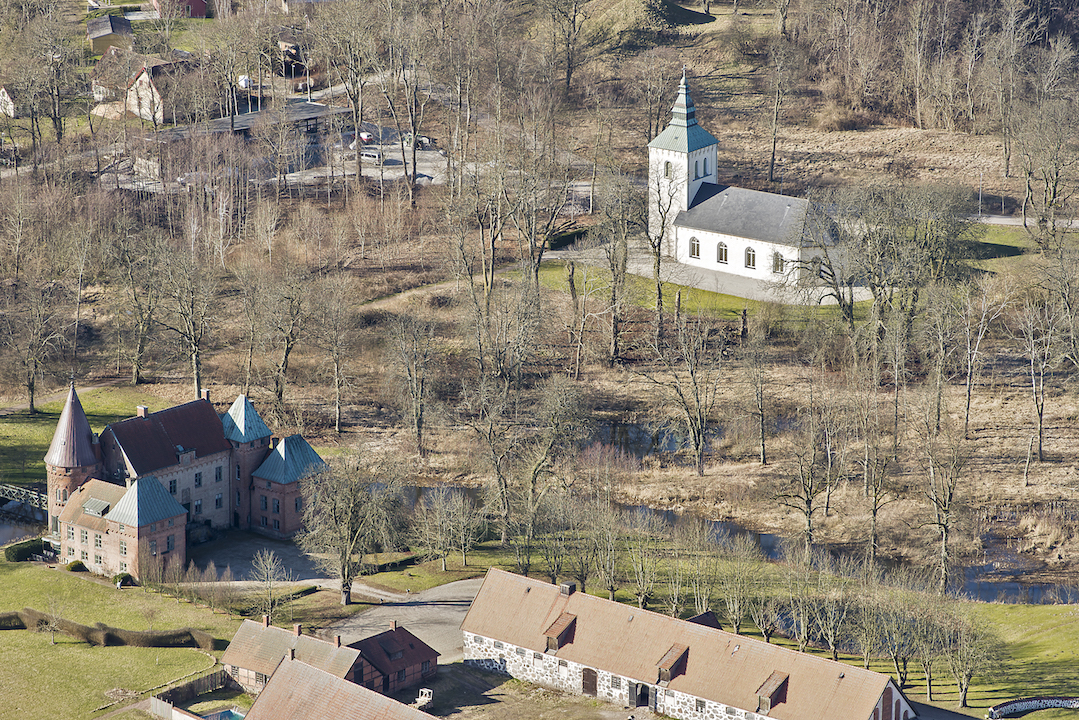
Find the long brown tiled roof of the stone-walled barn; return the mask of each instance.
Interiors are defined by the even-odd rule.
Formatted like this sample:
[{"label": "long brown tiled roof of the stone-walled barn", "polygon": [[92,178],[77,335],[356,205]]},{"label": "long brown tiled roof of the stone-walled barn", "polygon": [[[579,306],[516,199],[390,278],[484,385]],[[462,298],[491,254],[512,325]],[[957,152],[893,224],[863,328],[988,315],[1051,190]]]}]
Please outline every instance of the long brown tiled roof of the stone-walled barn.
[{"label": "long brown tiled roof of the stone-walled barn", "polygon": [[576,615],[576,630],[558,657],[634,681],[656,682],[660,664],[678,652],[672,646],[681,646],[671,690],[753,711],[757,690],[786,674],[786,697],[768,714],[778,720],[866,720],[889,684],[899,694],[886,675],[584,593],[565,596],[494,568],[461,629],[544,652],[544,630],[565,612]]}]

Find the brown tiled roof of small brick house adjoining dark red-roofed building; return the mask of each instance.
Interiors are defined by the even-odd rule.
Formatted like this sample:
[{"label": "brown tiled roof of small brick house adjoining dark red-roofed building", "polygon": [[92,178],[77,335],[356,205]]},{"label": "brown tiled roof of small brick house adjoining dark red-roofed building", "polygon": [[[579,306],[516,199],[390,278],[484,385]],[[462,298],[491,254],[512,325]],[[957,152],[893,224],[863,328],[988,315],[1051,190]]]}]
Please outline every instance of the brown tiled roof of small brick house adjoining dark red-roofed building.
[{"label": "brown tiled roof of small brick house adjoining dark red-roofed building", "polygon": [[221,656],[221,664],[269,676],[277,668],[282,658],[288,656],[290,649],[296,649],[297,660],[338,678],[344,678],[359,657],[359,651],[354,648],[339,648],[310,635],[296,635],[279,627],[264,627],[261,623],[245,620]]}]

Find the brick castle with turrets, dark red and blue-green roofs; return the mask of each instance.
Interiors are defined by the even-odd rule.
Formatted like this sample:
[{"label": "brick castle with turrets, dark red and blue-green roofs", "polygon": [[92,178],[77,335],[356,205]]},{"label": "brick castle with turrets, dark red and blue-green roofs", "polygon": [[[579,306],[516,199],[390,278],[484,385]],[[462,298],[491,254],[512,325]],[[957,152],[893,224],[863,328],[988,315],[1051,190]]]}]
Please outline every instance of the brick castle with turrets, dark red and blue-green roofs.
[{"label": "brick castle with turrets, dark red and blue-green roofs", "polygon": [[138,576],[139,555],[186,561],[213,530],[285,538],[303,522],[300,480],[325,465],[300,435],[283,439],[246,396],[218,415],[202,398],[93,433],[72,383],[45,454],[50,541],[63,561]]}]

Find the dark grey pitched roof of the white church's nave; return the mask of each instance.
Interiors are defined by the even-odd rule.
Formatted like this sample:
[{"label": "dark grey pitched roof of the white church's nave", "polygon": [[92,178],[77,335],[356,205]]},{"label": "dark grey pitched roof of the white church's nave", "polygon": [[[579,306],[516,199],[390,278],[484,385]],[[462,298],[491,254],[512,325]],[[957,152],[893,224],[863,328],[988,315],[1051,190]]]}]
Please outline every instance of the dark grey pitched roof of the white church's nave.
[{"label": "dark grey pitched roof of the white church's nave", "polygon": [[777,245],[802,247],[807,243],[808,201],[771,192],[705,184],[693,205],[679,213],[675,227],[718,232]]}]

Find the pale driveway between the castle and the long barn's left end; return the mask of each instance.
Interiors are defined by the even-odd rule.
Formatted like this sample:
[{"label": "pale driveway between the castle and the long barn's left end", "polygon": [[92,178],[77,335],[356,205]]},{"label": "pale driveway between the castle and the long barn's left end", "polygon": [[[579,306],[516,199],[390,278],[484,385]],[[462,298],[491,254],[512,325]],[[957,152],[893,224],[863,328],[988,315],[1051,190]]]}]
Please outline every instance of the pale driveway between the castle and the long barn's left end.
[{"label": "pale driveway between the castle and the long barn's left end", "polygon": [[[388,629],[390,623],[397,621],[439,653],[440,665],[455,663],[464,655],[461,623],[482,582],[482,578],[459,580],[422,593],[400,594],[328,626],[323,636],[340,635],[341,642],[347,644]],[[356,590],[364,592],[358,584]]]}]

